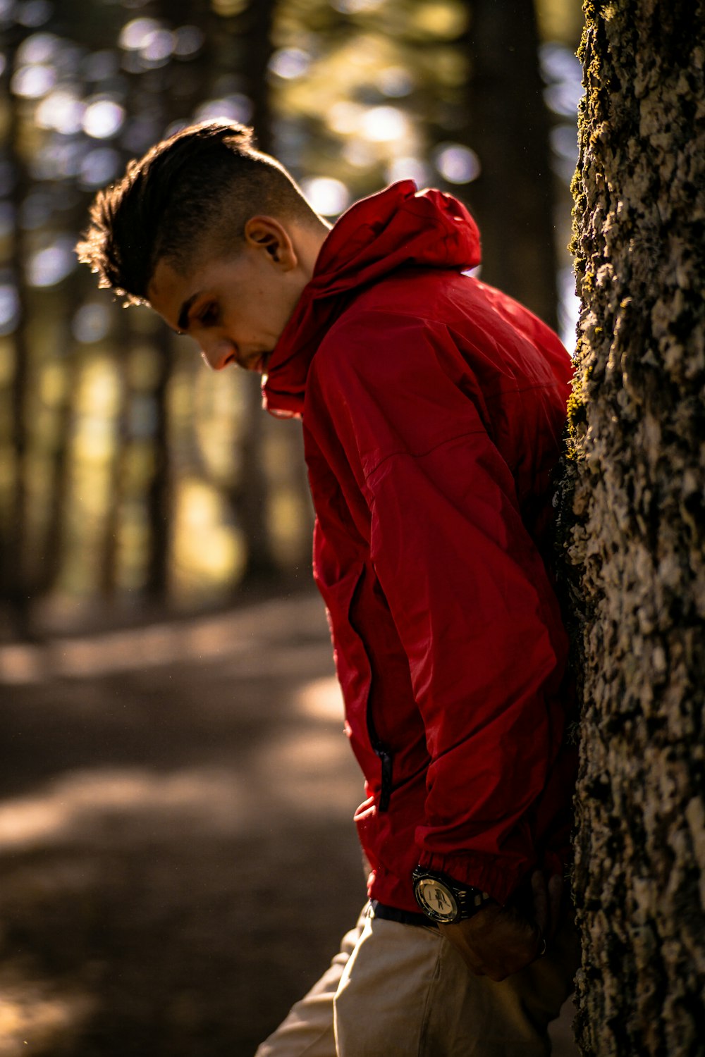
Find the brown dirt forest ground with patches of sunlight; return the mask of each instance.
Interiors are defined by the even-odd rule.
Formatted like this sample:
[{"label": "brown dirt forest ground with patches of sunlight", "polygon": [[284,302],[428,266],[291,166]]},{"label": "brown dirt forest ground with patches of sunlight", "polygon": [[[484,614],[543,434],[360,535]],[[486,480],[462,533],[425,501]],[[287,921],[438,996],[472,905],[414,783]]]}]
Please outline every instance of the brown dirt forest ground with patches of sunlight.
[{"label": "brown dirt forest ground with patches of sunlight", "polygon": [[0,1057],[251,1057],[365,898],[319,599],[3,646],[0,702]]}]

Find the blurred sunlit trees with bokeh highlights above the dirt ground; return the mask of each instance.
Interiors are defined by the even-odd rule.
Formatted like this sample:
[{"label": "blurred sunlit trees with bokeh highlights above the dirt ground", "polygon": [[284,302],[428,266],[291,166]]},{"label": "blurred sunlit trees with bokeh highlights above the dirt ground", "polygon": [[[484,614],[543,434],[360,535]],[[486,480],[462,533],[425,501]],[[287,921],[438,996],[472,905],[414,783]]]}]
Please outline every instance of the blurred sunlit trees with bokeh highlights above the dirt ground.
[{"label": "blurred sunlit trees with bokeh highlights above the dirt ground", "polygon": [[193,120],[255,125],[314,207],[461,198],[482,277],[574,347],[578,0],[0,0],[0,606],[7,635],[308,582],[300,427],[124,311],[73,251]]}]

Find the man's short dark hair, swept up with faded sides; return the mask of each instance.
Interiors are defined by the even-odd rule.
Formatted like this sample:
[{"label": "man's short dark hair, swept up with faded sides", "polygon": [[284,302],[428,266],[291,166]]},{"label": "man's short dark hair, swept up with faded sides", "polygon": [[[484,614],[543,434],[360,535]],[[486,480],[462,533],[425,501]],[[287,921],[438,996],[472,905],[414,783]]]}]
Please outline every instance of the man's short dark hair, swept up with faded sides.
[{"label": "man's short dark hair, swept up with faded sides", "polygon": [[258,151],[253,129],[191,125],[132,161],[98,191],[78,259],[129,303],[147,299],[156,262],[184,274],[208,241],[227,253],[259,212],[303,222],[318,218],[284,167]]}]

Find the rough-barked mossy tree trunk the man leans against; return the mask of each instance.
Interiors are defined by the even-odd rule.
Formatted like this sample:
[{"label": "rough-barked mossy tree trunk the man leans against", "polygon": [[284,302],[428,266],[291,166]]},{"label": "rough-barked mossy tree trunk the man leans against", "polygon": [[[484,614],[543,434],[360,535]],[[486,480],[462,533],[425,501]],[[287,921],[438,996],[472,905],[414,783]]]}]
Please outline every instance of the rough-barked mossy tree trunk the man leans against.
[{"label": "rough-barked mossy tree trunk the man leans against", "polygon": [[685,1057],[705,1024],[705,2],[586,16],[562,496],[582,609],[577,1035],[599,1057]]}]

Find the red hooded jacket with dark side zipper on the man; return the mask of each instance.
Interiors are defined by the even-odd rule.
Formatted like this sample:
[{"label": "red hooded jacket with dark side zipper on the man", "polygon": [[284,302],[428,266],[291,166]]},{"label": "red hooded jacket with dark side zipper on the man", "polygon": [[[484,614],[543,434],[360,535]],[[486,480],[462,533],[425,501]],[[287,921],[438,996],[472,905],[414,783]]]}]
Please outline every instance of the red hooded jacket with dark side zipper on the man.
[{"label": "red hooded jacket with dark side zipper on the man", "polygon": [[504,903],[536,863],[560,868],[570,826],[567,639],[540,550],[572,367],[462,274],[479,260],[449,196],[404,181],[358,202],[264,385],[303,419],[369,893],[407,910],[419,861]]}]

